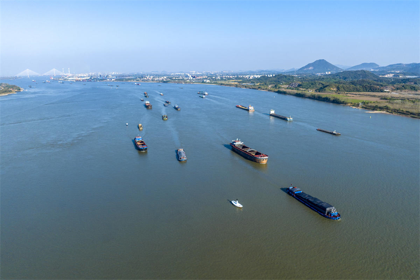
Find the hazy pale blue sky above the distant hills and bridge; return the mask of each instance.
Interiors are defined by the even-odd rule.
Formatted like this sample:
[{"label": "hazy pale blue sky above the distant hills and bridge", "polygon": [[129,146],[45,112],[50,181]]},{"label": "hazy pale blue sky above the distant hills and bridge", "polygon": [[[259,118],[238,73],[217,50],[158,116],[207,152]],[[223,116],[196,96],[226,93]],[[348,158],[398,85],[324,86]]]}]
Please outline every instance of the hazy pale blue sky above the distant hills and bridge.
[{"label": "hazy pale blue sky above the distant hills and bridge", "polygon": [[420,61],[420,1],[0,1],[0,75]]}]

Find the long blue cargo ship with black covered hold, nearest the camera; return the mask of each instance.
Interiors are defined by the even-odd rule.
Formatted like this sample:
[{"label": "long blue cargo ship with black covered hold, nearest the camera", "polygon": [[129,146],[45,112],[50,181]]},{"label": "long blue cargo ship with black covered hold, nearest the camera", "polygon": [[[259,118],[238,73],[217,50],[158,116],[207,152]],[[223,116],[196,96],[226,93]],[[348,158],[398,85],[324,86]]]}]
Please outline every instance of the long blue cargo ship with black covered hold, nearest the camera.
[{"label": "long blue cargo ship with black covered hold, nearest the camera", "polygon": [[287,190],[289,194],[292,195],[294,198],[296,198],[312,210],[318,212],[325,218],[332,220],[339,220],[341,218],[340,214],[338,214],[336,208],[334,208],[333,205],[321,201],[320,199],[313,197],[309,194],[306,194],[300,188],[297,187],[289,187]]}]

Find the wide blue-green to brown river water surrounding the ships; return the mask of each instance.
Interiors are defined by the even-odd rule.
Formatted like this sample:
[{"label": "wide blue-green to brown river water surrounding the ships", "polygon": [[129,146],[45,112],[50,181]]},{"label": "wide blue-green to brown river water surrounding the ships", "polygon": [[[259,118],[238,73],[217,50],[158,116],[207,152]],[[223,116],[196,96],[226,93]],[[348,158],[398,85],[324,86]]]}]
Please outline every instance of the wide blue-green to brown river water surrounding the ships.
[{"label": "wide blue-green to brown river water surrounding the ships", "polygon": [[25,91],[0,96],[1,279],[420,278],[418,119],[212,85],[2,82]]}]

